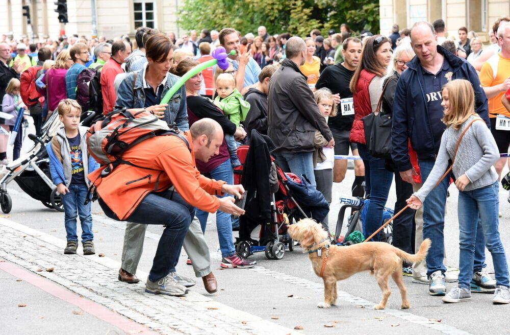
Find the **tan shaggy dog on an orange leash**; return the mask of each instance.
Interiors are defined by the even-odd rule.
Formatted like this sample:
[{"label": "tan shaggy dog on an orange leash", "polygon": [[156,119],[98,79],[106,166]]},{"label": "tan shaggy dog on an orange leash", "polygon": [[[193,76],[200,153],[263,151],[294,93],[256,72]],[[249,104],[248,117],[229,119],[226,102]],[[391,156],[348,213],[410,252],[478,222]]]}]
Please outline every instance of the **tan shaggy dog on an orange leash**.
[{"label": "tan shaggy dog on an orange leash", "polygon": [[[312,268],[317,276],[324,264],[326,265],[322,275],[324,281],[324,302],[319,302],[317,307],[327,308],[334,305],[337,300],[337,281],[346,279],[361,271],[370,271],[377,280],[382,291],[381,301],[375,309],[384,309],[391,294],[388,286],[388,278],[391,275],[393,281],[400,289],[402,305],[400,308],[409,308],[407,291],[402,280],[402,260],[417,262],[425,258],[430,240],[426,238],[420,246],[418,253],[411,255],[384,242],[359,243],[351,246],[329,245],[327,232],[321,225],[310,219],[303,219],[297,224],[288,227],[289,235],[296,241],[301,242],[303,252],[321,249],[321,255],[317,252],[309,253]],[[322,241],[322,242],[321,242]]]}]

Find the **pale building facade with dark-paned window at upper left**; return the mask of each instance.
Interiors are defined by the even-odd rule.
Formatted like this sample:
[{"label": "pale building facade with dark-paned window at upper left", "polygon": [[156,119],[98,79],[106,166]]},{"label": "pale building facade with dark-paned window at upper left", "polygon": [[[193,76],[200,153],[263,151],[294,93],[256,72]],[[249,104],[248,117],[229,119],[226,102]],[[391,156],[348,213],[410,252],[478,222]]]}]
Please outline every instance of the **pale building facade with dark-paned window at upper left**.
[{"label": "pale building facade with dark-paned window at upper left", "polygon": [[[179,36],[177,17],[180,0],[67,0],[68,23],[59,23],[55,1],[63,0],[0,0],[6,8],[6,19],[0,20],[0,32],[13,35],[56,38],[65,30],[66,35],[93,35],[93,10],[95,9],[97,36],[107,39],[124,34],[134,35],[138,27],[158,28],[165,33]],[[23,6],[29,6],[31,24],[23,15]],[[181,32],[182,34],[183,32]]]}]

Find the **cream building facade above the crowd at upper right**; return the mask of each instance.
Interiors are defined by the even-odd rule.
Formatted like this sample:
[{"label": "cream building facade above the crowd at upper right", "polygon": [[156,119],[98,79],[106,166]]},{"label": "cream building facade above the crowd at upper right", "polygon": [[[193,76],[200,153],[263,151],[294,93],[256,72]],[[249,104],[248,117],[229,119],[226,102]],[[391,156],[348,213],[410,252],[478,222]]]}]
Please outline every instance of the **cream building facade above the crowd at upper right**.
[{"label": "cream building facade above the crowd at upper right", "polygon": [[394,23],[403,29],[442,18],[448,36],[457,37],[458,28],[466,27],[485,42],[494,21],[510,14],[510,0],[379,0],[379,5],[381,34],[389,34]]}]

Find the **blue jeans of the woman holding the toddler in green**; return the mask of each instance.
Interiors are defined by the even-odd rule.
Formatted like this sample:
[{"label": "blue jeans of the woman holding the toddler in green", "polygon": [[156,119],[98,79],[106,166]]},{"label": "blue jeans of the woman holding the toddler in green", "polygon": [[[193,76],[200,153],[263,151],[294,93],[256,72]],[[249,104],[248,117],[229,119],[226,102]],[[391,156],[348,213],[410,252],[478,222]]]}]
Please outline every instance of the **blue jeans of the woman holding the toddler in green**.
[{"label": "blue jeans of the woman holding the toddler in green", "polygon": [[[225,160],[220,165],[216,166],[215,169],[209,173],[203,174],[206,177],[226,181],[227,184],[234,184],[234,172],[230,159]],[[224,194],[222,197],[232,197],[231,195]],[[200,221],[202,232],[206,231],[207,217],[209,213],[200,209],[197,209],[196,217]],[[216,229],[218,230],[218,241],[220,244],[221,256],[230,257],[236,253],[234,247],[234,236],[232,234],[232,215],[216,211]]]}]

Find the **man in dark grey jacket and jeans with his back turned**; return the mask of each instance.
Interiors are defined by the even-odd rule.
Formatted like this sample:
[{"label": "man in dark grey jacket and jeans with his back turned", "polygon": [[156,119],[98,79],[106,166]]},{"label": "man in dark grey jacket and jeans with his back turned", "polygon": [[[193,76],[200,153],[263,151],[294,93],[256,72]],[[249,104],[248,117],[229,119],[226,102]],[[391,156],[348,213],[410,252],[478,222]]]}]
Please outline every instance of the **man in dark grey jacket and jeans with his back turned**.
[{"label": "man in dark grey jacket and jeans with his back turned", "polygon": [[287,58],[269,81],[268,136],[276,149],[273,155],[285,172],[304,174],[316,186],[312,154],[318,130],[333,148],[335,140],[314,95],[299,70],[304,64],[306,44],[297,36],[287,41]]}]

